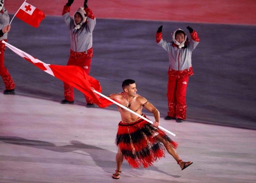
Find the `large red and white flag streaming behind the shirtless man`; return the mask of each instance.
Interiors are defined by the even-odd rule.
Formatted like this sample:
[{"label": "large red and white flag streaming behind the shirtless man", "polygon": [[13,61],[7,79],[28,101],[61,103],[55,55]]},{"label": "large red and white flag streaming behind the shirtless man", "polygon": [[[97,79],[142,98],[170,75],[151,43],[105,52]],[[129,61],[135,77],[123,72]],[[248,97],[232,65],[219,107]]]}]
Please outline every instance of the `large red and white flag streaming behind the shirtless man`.
[{"label": "large red and white flag streaming behind the shirtless man", "polygon": [[87,75],[82,67],[46,64],[32,57],[28,53],[10,45],[9,43],[6,43],[5,41],[2,41],[2,43],[5,43],[6,46],[14,51],[17,55],[34,64],[36,67],[64,81],[65,83],[68,83],[72,87],[75,87],[85,95],[89,96],[99,107],[105,108],[113,104],[113,102],[110,102],[106,98],[99,98],[96,96],[96,94],[91,90],[91,87],[93,87],[96,91],[101,92],[102,89],[100,83],[98,80]]}]

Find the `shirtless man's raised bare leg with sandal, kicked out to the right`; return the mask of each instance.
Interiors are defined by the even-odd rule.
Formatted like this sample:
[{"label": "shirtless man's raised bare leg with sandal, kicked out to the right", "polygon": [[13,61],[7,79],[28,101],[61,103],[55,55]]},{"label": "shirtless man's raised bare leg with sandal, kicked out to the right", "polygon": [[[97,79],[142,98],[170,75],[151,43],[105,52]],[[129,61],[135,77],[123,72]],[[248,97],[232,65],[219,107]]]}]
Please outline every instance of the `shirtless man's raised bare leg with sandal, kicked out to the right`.
[{"label": "shirtless man's raised bare leg with sandal, kicked out to the right", "polygon": [[184,168],[184,166],[191,164],[191,161],[183,162],[176,150],[173,148],[172,144],[170,142],[167,142],[164,138],[162,138],[160,135],[156,136],[157,140],[159,142],[162,142],[164,144],[164,147],[166,148],[167,152],[174,157],[174,159],[177,161],[177,163],[180,165],[181,168]]}]

